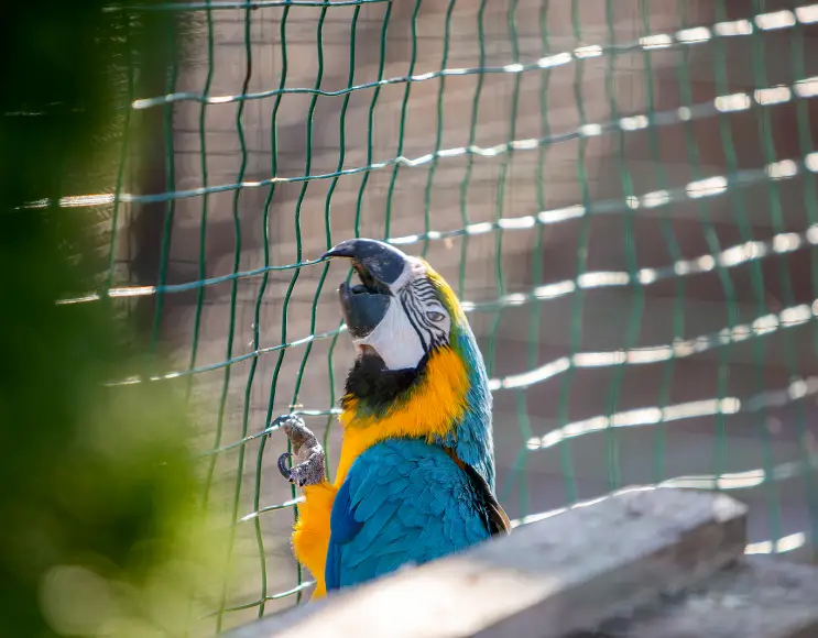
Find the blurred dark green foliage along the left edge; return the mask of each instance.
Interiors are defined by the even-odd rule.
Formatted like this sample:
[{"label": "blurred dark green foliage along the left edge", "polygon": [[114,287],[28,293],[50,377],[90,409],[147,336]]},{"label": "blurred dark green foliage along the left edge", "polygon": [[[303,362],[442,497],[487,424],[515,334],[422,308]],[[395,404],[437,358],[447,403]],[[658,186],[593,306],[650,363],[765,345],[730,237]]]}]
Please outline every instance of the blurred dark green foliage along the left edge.
[{"label": "blurred dark green foliage along the left edge", "polygon": [[129,69],[161,77],[178,45],[170,13],[124,9],[0,19],[1,636],[183,635],[223,562],[175,388],[110,385],[144,370],[127,314],[56,302],[99,287],[110,210],[25,207],[116,183]]}]

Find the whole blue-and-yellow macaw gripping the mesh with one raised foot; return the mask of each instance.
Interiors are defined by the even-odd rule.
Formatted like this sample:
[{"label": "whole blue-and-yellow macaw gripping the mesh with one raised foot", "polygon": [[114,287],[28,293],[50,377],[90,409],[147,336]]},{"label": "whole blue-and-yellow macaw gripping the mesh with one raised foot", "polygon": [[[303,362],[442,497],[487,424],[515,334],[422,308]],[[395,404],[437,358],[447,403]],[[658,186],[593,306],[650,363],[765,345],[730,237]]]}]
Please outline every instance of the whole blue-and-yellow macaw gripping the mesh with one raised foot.
[{"label": "whole blue-and-yellow macaw gripping the mesh with one raised foot", "polygon": [[338,288],[357,359],[335,482],[295,415],[281,426],[297,463],[279,459],[304,490],[292,543],[314,598],[511,531],[494,495],[486,366],[451,288],[424,260],[375,240],[343,241],[325,257],[351,260],[360,279]]}]

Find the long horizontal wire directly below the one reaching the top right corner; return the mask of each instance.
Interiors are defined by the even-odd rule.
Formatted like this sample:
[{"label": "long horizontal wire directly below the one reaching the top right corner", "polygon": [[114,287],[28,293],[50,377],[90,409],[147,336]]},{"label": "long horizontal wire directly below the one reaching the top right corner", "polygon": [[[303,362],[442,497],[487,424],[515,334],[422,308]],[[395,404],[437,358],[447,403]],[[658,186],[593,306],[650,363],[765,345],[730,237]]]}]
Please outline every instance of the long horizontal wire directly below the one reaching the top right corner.
[{"label": "long horizontal wire directly below the one reaching the top right corner", "polygon": [[[340,170],[334,170],[330,173],[320,173],[313,175],[298,175],[291,177],[270,177],[253,182],[239,182],[232,184],[222,184],[217,186],[207,186],[190,188],[186,190],[174,190],[171,193],[157,193],[152,195],[133,195],[122,194],[119,200],[123,204],[155,204],[162,201],[171,201],[176,199],[188,199],[192,197],[200,197],[203,195],[212,195],[216,193],[230,193],[235,190],[241,190],[244,188],[262,188],[271,186],[273,184],[287,184],[287,183],[303,183],[312,182],[317,179],[334,179],[336,177],[359,175],[361,173],[369,173],[373,170],[380,170],[383,168],[390,168],[396,165],[406,167],[422,166],[446,157],[462,157],[462,156],[479,156],[479,157],[497,157],[500,155],[508,154],[512,151],[534,151],[542,146],[549,146],[553,144],[559,144],[580,139],[598,138],[600,135],[613,133],[613,132],[633,132],[641,131],[648,128],[667,127],[677,124],[680,122],[688,122],[694,120],[700,120],[709,117],[713,117],[718,113],[737,112],[748,110],[755,107],[773,107],[783,103],[787,103],[793,99],[812,99],[818,97],[818,76],[808,77],[796,80],[792,85],[770,86],[766,88],[760,88],[752,92],[738,92],[718,96],[713,100],[706,102],[699,102],[691,105],[690,107],[679,107],[677,109],[668,109],[665,111],[657,111],[654,113],[639,113],[634,116],[628,116],[613,121],[606,121],[602,123],[588,123],[572,131],[566,133],[559,133],[556,135],[548,135],[545,138],[531,138],[525,140],[513,140],[511,142],[504,142],[495,144],[494,146],[457,146],[452,148],[444,148],[434,153],[427,153],[415,158],[405,156],[396,156],[382,162],[375,162],[366,166],[357,166],[352,168],[343,168]],[[811,153],[810,155],[817,155]],[[792,161],[790,161],[792,162]],[[737,174],[738,175],[738,174]],[[715,178],[711,178],[715,179]],[[721,177],[721,179],[727,179]],[[702,180],[706,182],[706,180]],[[702,185],[705,186],[705,185]],[[694,196],[695,197],[695,196]],[[101,204],[109,204],[113,201],[113,195],[100,194],[100,195],[84,195],[84,196],[69,196],[61,199],[61,206],[66,207],[79,207],[79,206],[99,206]],[[654,206],[662,205],[656,204]],[[26,205],[24,208],[45,208],[48,206],[48,200],[37,200]],[[631,208],[631,207],[629,207]],[[462,234],[463,231],[459,231],[456,234]],[[428,235],[428,233],[427,233]],[[421,241],[426,239],[427,235],[408,235],[410,238],[417,238],[413,241]],[[455,237],[449,234],[448,237]],[[440,238],[447,237],[440,233]],[[396,238],[399,241],[401,238]],[[433,239],[428,237],[428,239]]]}]

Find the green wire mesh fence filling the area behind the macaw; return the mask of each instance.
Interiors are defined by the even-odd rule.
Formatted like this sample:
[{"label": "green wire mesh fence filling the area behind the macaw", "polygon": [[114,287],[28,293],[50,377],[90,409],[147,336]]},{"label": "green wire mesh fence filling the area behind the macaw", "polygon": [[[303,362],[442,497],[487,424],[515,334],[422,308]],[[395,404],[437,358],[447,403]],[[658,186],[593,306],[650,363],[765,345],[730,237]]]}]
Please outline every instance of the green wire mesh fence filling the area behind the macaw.
[{"label": "green wire mesh fence filling the area behind the macaw", "polygon": [[749,551],[815,546],[818,6],[151,10],[196,33],[128,106],[128,125],[162,113],[160,187],[129,177],[126,135],[116,194],[65,204],[112,202],[89,298],[150,309],[178,362],[153,381],[182,377],[200,415],[203,503],[235,521],[210,630],[310,585],[271,424],[304,415],[331,473],[353,354],[348,273],[317,257],[353,235],[426,256],[463,299],[517,521],[676,485],[746,501]]}]

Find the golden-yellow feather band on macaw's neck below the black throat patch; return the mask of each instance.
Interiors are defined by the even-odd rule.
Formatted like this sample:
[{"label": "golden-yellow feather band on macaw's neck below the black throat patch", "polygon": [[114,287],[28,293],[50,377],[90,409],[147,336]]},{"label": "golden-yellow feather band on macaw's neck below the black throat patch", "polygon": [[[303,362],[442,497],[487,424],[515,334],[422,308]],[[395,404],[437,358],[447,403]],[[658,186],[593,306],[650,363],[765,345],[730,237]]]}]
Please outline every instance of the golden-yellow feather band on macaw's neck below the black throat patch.
[{"label": "golden-yellow feather band on macaw's neck below the black throat patch", "polygon": [[412,437],[430,441],[446,435],[462,417],[467,391],[466,364],[450,348],[443,348],[429,358],[423,378],[408,399],[385,415],[358,415],[358,399],[347,398],[339,417],[343,442],[335,484],[343,483],[352,462],[364,450],[384,439]]}]

